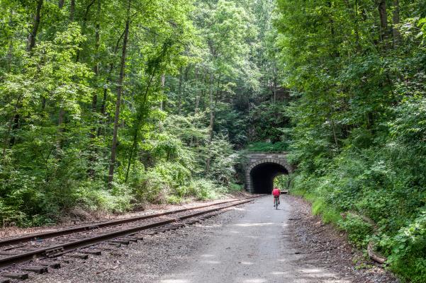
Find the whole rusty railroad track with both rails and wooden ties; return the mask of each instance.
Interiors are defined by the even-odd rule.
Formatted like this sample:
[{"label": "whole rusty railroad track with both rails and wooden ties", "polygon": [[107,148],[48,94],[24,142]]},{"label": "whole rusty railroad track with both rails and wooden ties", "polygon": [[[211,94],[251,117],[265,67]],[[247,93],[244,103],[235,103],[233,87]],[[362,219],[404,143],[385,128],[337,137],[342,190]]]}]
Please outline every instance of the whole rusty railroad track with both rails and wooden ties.
[{"label": "whole rusty railroad track with both rails and wooden ties", "polygon": [[[179,229],[182,226],[200,222],[224,209],[251,202],[256,197],[259,196],[1,240],[0,268],[4,270],[3,273],[0,270],[0,276],[9,279],[26,279],[28,273],[7,271],[16,263],[42,259],[47,261],[38,266],[25,265],[21,267],[21,271],[44,273],[47,272],[47,267],[60,267],[60,263],[49,260],[64,255],[82,259],[88,258],[89,255],[101,255],[101,250],[94,249],[96,244],[128,245],[142,240],[146,235]],[[2,277],[0,277],[0,283],[9,282],[9,279],[2,279]]]}]

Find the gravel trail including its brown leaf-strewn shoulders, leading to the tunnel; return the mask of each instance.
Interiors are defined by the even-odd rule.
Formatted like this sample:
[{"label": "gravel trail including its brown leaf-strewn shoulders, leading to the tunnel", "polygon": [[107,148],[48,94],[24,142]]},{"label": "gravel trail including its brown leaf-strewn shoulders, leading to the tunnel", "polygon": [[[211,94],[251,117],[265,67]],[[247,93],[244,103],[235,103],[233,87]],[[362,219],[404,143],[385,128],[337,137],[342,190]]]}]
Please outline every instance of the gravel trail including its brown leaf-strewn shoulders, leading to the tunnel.
[{"label": "gravel trail including its brown leaf-strewn shoulders, leading to the tunnel", "polygon": [[371,262],[355,268],[360,256],[303,200],[284,196],[276,210],[271,197],[262,197],[201,224],[31,275],[30,282],[397,282]]}]

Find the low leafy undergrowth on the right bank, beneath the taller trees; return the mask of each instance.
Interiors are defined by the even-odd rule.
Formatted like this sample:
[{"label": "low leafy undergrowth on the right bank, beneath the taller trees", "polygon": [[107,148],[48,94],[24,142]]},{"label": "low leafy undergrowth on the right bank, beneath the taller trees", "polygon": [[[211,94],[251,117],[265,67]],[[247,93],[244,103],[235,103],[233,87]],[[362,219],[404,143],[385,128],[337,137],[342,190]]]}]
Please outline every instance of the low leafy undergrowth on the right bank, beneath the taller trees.
[{"label": "low leafy undergrowth on the right bank, beneath the taller trees", "polygon": [[374,241],[403,282],[420,283],[426,282],[426,192],[417,175],[422,165],[409,165],[411,150],[390,145],[318,158],[327,169],[299,168],[291,193],[310,201],[325,223],[346,231],[355,247]]}]

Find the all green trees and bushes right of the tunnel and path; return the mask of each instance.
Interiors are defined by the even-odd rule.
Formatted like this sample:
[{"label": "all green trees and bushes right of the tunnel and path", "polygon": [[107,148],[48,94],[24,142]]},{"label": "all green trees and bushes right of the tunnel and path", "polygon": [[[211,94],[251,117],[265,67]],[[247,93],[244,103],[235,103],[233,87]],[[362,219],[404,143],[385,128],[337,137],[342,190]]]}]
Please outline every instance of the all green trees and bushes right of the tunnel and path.
[{"label": "all green trees and bushes right of the tunnel and path", "polygon": [[381,1],[277,3],[292,192],[355,246],[373,239],[402,279],[425,281],[423,1],[386,2],[388,17]]}]

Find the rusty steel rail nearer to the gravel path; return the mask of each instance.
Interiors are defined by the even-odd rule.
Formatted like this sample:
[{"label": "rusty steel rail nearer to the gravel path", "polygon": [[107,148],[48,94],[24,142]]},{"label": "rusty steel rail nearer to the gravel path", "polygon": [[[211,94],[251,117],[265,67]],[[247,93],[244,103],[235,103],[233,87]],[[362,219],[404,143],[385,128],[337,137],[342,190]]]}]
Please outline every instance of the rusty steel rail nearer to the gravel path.
[{"label": "rusty steel rail nearer to the gravel path", "polygon": [[[259,196],[256,196],[256,197],[259,197]],[[142,225],[142,226],[133,226],[133,227],[130,227],[130,228],[127,228],[127,229],[112,231],[110,233],[103,233],[103,234],[93,236],[93,237],[90,237],[90,238],[84,238],[84,239],[81,239],[81,240],[78,240],[78,241],[63,243],[63,244],[56,245],[56,246],[50,246],[48,248],[40,248],[38,250],[32,250],[30,252],[21,253],[20,255],[11,255],[10,257],[0,259],[0,267],[6,267],[6,266],[9,266],[9,265],[12,265],[13,263],[25,262],[25,261],[32,260],[32,259],[35,259],[35,258],[45,258],[45,257],[47,257],[47,255],[52,254],[52,253],[54,255],[62,255],[64,253],[72,252],[73,250],[76,250],[77,248],[86,248],[88,246],[93,246],[96,243],[101,243],[103,241],[108,241],[108,240],[112,240],[114,238],[123,237],[123,236],[130,236],[130,235],[133,235],[133,234],[138,233],[138,232],[143,231],[143,230],[152,229],[152,228],[164,226],[164,225],[167,225],[167,224],[172,224],[176,221],[193,218],[193,217],[200,216],[200,215],[203,215],[203,214],[208,214],[208,213],[211,213],[211,212],[217,212],[219,210],[227,209],[229,207],[235,207],[235,206],[240,205],[240,204],[252,202],[252,200],[256,197],[248,197],[248,198],[245,198],[244,200],[242,200],[240,202],[226,205],[225,207],[215,207],[213,209],[207,209],[207,210],[204,210],[202,212],[195,212],[193,214],[188,214],[188,215],[184,215],[184,216],[180,216],[180,217],[176,217],[176,218],[172,218],[172,219],[157,221],[157,222],[152,223],[152,224],[145,224],[145,225]]]}]

